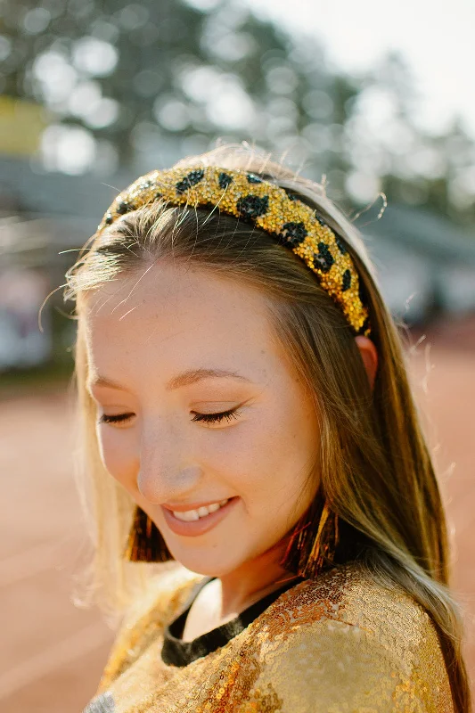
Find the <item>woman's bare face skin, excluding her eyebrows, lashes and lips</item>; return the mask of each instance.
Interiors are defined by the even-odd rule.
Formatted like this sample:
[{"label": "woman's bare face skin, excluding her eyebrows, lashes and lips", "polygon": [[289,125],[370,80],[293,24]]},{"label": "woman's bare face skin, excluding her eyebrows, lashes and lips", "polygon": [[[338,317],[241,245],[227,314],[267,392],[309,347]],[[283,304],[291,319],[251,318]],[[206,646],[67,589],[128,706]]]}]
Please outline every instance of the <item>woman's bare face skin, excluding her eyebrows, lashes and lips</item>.
[{"label": "woman's bare face skin, excluding her eyebrows, lashes and lips", "polygon": [[[98,424],[103,463],[176,560],[220,579],[222,611],[288,577],[278,562],[315,495],[319,427],[310,394],[274,341],[263,297],[199,268],[160,263],[91,293],[81,318],[91,373],[123,386],[93,389],[98,416],[133,414]],[[230,369],[250,382],[166,389],[191,368]],[[237,406],[237,419],[192,422],[195,413]],[[199,537],[173,533],[160,507],[233,496],[233,511]]]}]

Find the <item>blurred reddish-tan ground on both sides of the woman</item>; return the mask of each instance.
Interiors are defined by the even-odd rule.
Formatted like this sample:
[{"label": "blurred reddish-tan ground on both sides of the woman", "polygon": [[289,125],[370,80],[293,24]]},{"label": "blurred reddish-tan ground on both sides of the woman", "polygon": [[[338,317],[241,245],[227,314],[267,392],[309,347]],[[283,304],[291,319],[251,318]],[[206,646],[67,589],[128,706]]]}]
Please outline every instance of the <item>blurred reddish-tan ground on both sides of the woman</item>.
[{"label": "blurred reddish-tan ground on both sides of the woman", "polygon": [[[427,332],[411,373],[446,500],[454,587],[466,611],[465,651],[475,678],[475,320]],[[3,394],[3,713],[78,713],[94,694],[111,645],[100,613],[74,604],[86,539],[73,451],[65,389]]]}]

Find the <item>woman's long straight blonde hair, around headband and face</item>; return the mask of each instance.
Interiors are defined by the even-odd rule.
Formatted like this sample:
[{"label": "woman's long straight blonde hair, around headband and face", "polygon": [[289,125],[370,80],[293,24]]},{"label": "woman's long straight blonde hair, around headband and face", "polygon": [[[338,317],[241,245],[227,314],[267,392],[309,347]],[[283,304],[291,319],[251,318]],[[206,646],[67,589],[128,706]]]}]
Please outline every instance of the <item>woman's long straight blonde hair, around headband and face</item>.
[{"label": "woman's long straight blonde hair, around headband and face", "polygon": [[[77,299],[76,380],[82,414],[82,470],[93,512],[94,594],[122,609],[153,566],[130,564],[123,551],[135,503],[104,470],[95,436],[95,406],[86,390],[83,296],[118,275],[157,258],[194,262],[266,295],[276,334],[315,393],[322,422],[320,477],[332,509],[373,547],[364,562],[385,586],[397,583],[433,619],[446,658],[455,710],[467,713],[470,691],[461,652],[461,624],[448,589],[446,521],[430,453],[422,436],[405,371],[401,340],[381,298],[373,266],[354,225],[322,185],[297,176],[266,155],[222,146],[177,165],[245,168],[297,193],[344,241],[360,275],[370,311],[379,368],[369,387],[345,318],[307,266],[289,250],[235,218],[209,219],[209,210],[170,208],[157,201],[86,243],[68,272],[66,298]],[[264,239],[266,238],[266,239]]]}]

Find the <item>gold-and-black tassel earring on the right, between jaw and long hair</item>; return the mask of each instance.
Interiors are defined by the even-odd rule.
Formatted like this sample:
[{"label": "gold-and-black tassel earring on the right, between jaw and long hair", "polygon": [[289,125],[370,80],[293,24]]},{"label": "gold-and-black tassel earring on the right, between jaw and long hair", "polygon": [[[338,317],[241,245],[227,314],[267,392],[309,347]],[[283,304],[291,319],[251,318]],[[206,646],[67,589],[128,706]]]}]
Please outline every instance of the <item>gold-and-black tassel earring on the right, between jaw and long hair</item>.
[{"label": "gold-and-black tassel earring on the right, between jaw and long hair", "polygon": [[307,518],[305,524],[294,530],[282,564],[300,577],[315,579],[323,566],[333,561],[339,543],[338,515],[325,499],[323,507],[322,504],[311,507]]}]

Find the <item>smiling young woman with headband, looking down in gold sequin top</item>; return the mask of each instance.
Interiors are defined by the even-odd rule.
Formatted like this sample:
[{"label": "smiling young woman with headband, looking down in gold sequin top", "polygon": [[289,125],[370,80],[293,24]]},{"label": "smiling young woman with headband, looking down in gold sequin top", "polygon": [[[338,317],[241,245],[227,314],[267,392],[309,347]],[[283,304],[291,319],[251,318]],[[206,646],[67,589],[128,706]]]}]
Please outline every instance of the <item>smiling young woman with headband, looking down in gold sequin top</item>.
[{"label": "smiling young woman with headband, looking down in gold sequin top", "polygon": [[127,607],[87,713],[467,713],[400,340],[323,188],[233,147],[153,171],[68,283],[95,581]]}]

